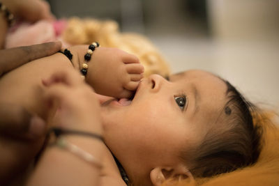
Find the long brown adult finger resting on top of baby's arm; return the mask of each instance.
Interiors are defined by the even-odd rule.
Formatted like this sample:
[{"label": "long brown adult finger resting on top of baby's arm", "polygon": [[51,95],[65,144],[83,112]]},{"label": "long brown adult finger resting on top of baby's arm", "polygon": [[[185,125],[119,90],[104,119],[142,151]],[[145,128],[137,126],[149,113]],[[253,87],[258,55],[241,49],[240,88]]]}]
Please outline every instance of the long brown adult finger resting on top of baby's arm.
[{"label": "long brown adult finger resting on top of baby's arm", "polygon": [[59,49],[61,49],[60,41],[0,50],[0,76],[29,61],[50,56]]}]

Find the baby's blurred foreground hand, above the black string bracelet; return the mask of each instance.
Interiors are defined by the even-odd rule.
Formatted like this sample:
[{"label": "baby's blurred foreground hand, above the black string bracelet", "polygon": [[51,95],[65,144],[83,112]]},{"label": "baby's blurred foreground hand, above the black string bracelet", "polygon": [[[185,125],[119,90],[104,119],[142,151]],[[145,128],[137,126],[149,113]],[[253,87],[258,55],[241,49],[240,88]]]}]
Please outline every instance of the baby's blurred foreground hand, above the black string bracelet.
[{"label": "baby's blurred foreground hand, above the black string bracelet", "polygon": [[76,71],[54,72],[43,79],[48,109],[58,106],[54,122],[68,129],[103,132],[100,125],[100,104],[93,89],[85,84]]}]

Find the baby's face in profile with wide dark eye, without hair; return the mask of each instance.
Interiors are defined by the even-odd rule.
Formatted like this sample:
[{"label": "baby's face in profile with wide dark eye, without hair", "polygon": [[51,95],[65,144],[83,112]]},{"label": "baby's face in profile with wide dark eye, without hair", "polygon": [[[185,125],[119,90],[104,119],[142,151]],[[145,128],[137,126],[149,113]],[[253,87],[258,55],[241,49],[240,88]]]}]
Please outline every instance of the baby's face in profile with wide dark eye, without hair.
[{"label": "baby's face in profile with wide dark eye, without hair", "polygon": [[182,149],[199,144],[211,127],[217,127],[226,91],[221,79],[201,70],[172,75],[169,81],[151,75],[142,80],[132,102],[103,104],[107,146],[124,168],[135,162],[175,163]]}]

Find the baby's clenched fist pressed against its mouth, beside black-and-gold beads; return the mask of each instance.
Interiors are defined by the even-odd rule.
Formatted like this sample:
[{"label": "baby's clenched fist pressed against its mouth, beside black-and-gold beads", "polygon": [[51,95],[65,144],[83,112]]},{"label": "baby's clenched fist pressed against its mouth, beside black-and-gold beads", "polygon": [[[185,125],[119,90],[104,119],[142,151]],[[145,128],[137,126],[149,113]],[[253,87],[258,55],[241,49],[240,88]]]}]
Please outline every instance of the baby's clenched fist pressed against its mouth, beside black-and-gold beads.
[{"label": "baby's clenched fist pressed against its mouth, beside black-and-gold beads", "polygon": [[136,56],[116,48],[96,48],[88,65],[86,82],[96,93],[114,98],[129,98],[144,72]]}]

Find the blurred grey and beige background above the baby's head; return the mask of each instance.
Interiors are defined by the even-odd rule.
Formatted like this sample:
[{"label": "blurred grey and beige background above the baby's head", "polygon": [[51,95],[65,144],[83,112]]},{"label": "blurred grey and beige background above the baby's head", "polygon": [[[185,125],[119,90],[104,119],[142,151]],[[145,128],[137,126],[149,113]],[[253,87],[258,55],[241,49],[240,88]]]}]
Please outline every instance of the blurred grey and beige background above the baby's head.
[{"label": "blurred grey and beige background above the baby's head", "polygon": [[278,0],[48,0],[56,17],[119,22],[147,36],[172,72],[203,69],[279,107]]}]

